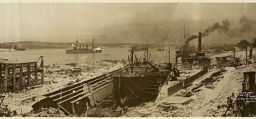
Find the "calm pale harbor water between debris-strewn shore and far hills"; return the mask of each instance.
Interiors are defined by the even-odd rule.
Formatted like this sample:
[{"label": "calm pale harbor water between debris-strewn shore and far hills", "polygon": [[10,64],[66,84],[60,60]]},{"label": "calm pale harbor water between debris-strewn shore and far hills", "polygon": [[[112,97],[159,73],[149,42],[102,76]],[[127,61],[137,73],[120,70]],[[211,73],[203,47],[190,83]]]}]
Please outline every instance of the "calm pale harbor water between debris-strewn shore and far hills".
[{"label": "calm pale harbor water between debris-strewn shore and far hills", "polygon": [[[0,52],[0,58],[10,59],[21,62],[38,61],[40,56],[44,56],[44,65],[65,65],[66,63],[86,63],[102,61],[106,59],[127,60],[127,56],[131,54],[129,47],[101,47],[101,53],[87,53],[87,54],[66,54],[67,49],[26,49],[26,51]],[[175,46],[170,47],[170,62],[175,58]],[[166,51],[157,51],[155,49],[148,49],[151,53],[148,54],[150,60],[159,63],[168,62],[168,47]],[[135,52],[136,58],[143,59],[147,57],[146,51]]]}]

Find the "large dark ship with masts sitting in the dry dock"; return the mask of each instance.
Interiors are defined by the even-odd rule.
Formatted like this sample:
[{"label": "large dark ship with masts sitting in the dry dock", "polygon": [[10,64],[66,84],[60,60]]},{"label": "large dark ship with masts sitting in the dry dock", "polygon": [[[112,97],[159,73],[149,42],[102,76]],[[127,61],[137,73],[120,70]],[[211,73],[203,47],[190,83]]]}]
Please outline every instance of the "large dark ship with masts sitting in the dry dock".
[{"label": "large dark ship with masts sitting in the dry dock", "polygon": [[[170,74],[172,63],[150,62],[150,52],[144,52],[143,61],[134,51],[128,56],[127,67],[113,75],[115,100],[118,106],[136,106],[141,102],[155,100],[159,89]],[[148,57],[149,56],[149,57]]]}]

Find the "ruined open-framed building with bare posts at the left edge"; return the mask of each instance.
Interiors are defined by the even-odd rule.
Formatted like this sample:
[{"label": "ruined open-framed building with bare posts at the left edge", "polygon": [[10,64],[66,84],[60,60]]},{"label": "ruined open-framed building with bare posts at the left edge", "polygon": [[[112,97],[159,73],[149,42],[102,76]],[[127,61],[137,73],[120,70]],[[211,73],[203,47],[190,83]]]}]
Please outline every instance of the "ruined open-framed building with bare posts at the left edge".
[{"label": "ruined open-framed building with bare posts at the left edge", "polygon": [[2,92],[22,91],[44,83],[44,61],[20,62],[0,59],[0,90]]}]

